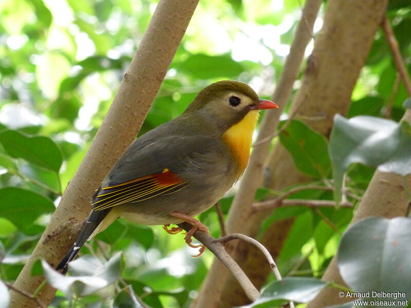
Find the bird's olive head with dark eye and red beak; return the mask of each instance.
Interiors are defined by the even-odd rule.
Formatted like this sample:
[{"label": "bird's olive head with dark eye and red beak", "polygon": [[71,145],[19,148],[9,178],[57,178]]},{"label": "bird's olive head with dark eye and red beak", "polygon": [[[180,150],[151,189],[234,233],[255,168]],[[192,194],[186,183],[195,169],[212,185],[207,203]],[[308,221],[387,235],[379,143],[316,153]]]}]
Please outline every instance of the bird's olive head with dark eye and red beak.
[{"label": "bird's olive head with dark eye and red beak", "polygon": [[247,118],[256,121],[258,110],[272,108],[278,106],[271,101],[259,99],[249,85],[225,80],[202,89],[184,113],[195,113],[223,132],[244,120],[248,114]]}]

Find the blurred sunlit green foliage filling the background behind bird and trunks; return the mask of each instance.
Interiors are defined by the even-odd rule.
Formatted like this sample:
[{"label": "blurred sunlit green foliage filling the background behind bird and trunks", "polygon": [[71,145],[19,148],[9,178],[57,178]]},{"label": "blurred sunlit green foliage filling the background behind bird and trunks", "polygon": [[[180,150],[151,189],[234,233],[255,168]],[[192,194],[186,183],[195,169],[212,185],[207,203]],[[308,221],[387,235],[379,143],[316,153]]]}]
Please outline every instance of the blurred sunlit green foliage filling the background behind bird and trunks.
[{"label": "blurred sunlit green foliage filling the background behind bird and trunks", "polygon": [[[268,98],[288,54],[301,5],[297,0],[200,2],[140,134],[175,118],[201,88],[214,81],[243,81],[260,97]],[[12,283],[16,279],[39,240],[102,122],[155,6],[155,1],[143,0],[0,2],[1,280]],[[405,1],[390,2],[388,17],[408,69],[410,15],[411,7]],[[321,26],[322,13],[314,35]],[[295,91],[298,86],[299,81]],[[407,96],[379,31],[352,93],[347,117],[372,115],[398,122]],[[329,182],[327,141],[319,141],[319,135],[301,122],[293,122],[287,132],[273,143],[282,142],[297,168],[315,183]],[[310,153],[301,155],[298,142],[287,136],[318,145],[313,149],[318,161],[307,160]],[[360,200],[374,171],[374,167],[360,164],[350,168],[351,202]],[[261,188],[257,198],[269,193],[279,194]],[[221,201],[225,214],[230,194]],[[332,196],[329,191],[313,189],[293,198],[331,200]],[[275,220],[296,217],[277,260],[282,274],[320,278],[352,210],[327,208],[322,210],[324,216],[307,207],[276,210],[263,229]],[[218,237],[216,211],[212,208],[200,219]],[[90,241],[82,254],[109,258],[122,251],[122,277],[147,304],[185,307],[195,297],[212,261],[210,252],[199,259],[190,258],[196,253],[189,249],[181,236],[169,236],[159,226],[119,220]],[[111,286],[76,299],[75,305],[110,306],[116,293]],[[50,306],[70,304],[59,292]]]}]

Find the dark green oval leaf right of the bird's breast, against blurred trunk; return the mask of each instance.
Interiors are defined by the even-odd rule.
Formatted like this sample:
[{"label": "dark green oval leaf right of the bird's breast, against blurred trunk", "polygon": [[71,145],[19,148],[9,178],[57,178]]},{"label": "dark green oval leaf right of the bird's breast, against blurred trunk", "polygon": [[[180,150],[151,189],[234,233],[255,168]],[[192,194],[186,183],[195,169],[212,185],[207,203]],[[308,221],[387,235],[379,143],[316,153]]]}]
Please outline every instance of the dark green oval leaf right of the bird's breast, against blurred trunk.
[{"label": "dark green oval leaf right of the bird's breast, against blurred trunk", "polygon": [[295,166],[313,178],[326,178],[331,170],[324,136],[300,121],[293,120],[279,136],[290,152]]}]

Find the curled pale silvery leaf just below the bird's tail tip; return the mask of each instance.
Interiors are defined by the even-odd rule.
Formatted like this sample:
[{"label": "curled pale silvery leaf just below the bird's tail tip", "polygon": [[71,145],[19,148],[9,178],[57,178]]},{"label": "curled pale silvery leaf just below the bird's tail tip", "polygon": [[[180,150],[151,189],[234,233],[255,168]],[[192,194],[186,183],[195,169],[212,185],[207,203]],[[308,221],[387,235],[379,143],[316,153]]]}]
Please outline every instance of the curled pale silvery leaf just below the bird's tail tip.
[{"label": "curled pale silvery leaf just below the bird's tail tip", "polygon": [[[64,276],[56,272],[46,261],[42,261],[47,281],[61,290],[67,298],[73,293],[85,296],[115,282],[121,273],[121,253],[117,253],[106,264],[102,265],[90,255],[78,258],[69,263],[69,272],[82,276]],[[86,274],[87,276],[83,276]]]}]

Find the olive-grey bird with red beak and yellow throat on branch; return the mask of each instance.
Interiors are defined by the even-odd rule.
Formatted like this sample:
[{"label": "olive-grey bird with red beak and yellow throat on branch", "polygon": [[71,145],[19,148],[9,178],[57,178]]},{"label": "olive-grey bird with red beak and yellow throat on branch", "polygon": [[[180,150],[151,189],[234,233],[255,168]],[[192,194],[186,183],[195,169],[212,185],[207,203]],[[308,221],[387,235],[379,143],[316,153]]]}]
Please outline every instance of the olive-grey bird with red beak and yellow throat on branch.
[{"label": "olive-grey bird with red beak and yellow throat on branch", "polygon": [[238,181],[249,160],[258,111],[278,106],[259,99],[246,83],[223,80],[203,88],[185,111],[146,132],[123,153],[91,197],[91,211],[80,234],[56,269],[68,263],[84,243],[116,219],[170,227],[193,227],[185,236],[192,247],[196,230],[208,228],[194,216],[213,206]]}]

